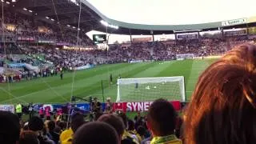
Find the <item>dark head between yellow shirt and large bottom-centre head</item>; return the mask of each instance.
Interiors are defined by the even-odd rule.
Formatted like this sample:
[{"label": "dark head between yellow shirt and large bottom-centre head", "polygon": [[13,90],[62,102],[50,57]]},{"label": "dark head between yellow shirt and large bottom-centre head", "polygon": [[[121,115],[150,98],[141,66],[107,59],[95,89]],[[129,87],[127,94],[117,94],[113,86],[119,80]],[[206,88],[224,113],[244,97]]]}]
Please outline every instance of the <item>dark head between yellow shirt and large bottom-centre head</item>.
[{"label": "dark head between yellow shirt and large bottom-centre head", "polygon": [[83,115],[80,113],[76,113],[71,118],[71,129],[75,132],[76,130],[78,130],[78,127],[82,126],[84,123],[86,123],[86,121],[83,118]]}]

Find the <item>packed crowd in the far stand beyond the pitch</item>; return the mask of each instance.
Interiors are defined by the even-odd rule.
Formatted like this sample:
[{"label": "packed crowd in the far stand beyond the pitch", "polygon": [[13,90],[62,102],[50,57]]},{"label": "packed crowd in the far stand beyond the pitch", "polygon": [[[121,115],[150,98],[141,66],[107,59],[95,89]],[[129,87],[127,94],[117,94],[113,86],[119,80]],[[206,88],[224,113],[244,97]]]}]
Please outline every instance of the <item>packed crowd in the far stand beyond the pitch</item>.
[{"label": "packed crowd in the far stand beyond the pitch", "polygon": [[34,53],[46,55],[46,59],[54,65],[85,66],[90,64],[105,64],[129,62],[131,60],[174,60],[177,54],[194,54],[194,56],[221,55],[230,47],[251,42],[248,39],[204,38],[202,40],[179,40],[177,42],[134,42],[131,44],[109,45],[108,50],[63,50],[34,48]]}]

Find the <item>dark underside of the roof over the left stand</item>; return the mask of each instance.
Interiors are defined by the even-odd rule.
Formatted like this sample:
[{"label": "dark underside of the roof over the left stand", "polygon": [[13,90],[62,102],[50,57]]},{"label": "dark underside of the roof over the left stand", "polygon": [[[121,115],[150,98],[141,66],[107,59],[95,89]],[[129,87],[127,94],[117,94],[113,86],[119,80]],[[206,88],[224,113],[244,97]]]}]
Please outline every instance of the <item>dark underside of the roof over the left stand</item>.
[{"label": "dark underside of the roof over the left stand", "polygon": [[[68,0],[18,0],[9,6],[10,10],[26,15],[34,15],[34,18],[39,21],[53,25],[58,25],[59,22],[62,26],[78,27],[79,6]],[[81,11],[80,27],[82,30],[89,31],[101,26],[99,23],[101,18],[93,10],[82,5]]]}]

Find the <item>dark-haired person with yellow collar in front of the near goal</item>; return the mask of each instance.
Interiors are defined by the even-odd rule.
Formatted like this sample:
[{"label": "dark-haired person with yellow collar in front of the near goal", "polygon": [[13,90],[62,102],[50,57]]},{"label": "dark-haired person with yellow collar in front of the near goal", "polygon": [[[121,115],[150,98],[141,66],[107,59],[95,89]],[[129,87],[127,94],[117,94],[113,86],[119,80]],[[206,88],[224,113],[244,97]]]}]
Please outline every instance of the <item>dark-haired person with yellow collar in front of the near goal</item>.
[{"label": "dark-haired person with yellow collar in front of the near goal", "polygon": [[153,135],[150,144],[182,144],[174,134],[176,117],[174,106],[165,99],[160,98],[152,103],[146,123]]}]

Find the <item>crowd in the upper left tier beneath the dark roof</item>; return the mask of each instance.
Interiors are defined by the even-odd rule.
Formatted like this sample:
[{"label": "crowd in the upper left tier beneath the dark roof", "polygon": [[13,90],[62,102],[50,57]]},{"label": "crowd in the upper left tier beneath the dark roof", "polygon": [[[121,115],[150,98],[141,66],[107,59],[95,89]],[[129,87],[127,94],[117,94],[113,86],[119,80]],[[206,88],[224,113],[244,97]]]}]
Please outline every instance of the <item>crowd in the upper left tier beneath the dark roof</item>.
[{"label": "crowd in the upper left tier beneath the dark roof", "polygon": [[[46,22],[34,22],[31,17],[26,15],[6,11],[4,18],[6,35],[13,35],[13,38],[17,38],[18,41],[48,41],[76,45],[78,39],[78,45],[91,46],[93,44],[85,34],[80,34],[77,38],[77,30],[64,29],[63,26],[53,27]],[[2,27],[0,30],[2,30]]]}]

